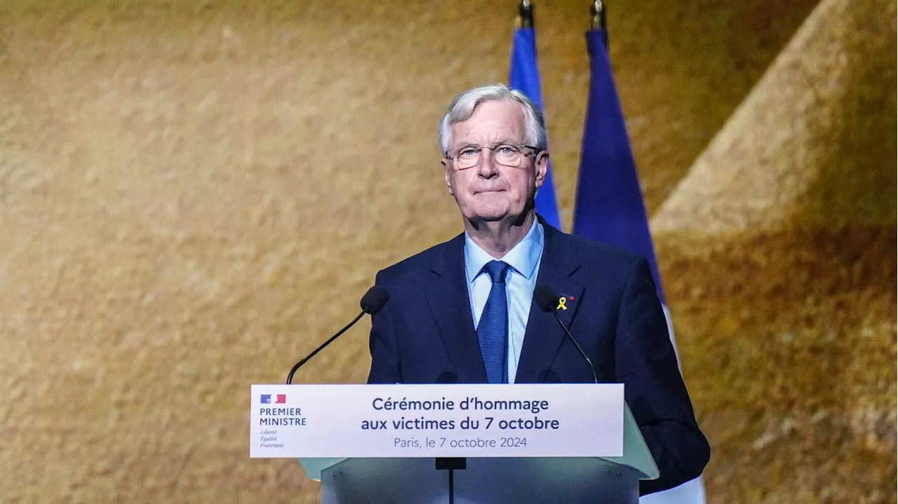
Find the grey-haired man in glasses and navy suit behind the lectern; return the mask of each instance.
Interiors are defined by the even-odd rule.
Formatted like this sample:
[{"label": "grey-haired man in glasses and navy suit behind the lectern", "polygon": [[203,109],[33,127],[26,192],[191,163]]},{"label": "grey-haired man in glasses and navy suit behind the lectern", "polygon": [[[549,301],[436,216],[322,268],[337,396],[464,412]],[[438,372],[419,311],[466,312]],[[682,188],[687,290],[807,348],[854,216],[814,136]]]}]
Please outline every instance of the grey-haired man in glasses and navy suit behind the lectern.
[{"label": "grey-haired man in glasses and navy suit behind the lectern", "polygon": [[647,260],[541,221],[549,161],[533,101],[502,84],[465,91],[439,129],[449,194],[464,232],[377,274],[390,301],[373,318],[369,383],[577,383],[593,375],[557,320],[533,303],[559,291],[561,317],[598,378],[624,383],[661,477],[641,493],[701,474],[709,459]]}]

